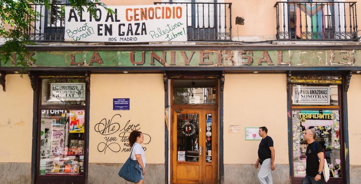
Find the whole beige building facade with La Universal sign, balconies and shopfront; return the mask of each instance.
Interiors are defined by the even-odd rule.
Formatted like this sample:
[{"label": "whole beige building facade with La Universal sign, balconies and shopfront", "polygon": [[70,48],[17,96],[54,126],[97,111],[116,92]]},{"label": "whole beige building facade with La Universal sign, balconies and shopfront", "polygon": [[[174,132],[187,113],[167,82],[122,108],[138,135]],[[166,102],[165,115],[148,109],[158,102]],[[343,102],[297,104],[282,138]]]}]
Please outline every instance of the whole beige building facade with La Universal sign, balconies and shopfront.
[{"label": "whole beige building facade with La Universal sign, balconies and shopfront", "polygon": [[31,5],[27,75],[0,62],[1,183],[126,183],[132,130],[147,183],[257,183],[262,126],[274,183],[301,183],[306,129],[328,183],[361,179],[358,0],[104,0],[103,23],[67,3]]}]

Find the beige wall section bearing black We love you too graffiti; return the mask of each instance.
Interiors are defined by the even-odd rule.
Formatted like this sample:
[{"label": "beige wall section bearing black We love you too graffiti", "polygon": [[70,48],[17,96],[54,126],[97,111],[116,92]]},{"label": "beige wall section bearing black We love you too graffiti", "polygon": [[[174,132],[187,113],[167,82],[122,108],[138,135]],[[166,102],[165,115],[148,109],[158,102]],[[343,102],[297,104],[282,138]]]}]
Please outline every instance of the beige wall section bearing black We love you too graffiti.
[{"label": "beige wall section bearing black We love you too graffiti", "polygon": [[[113,111],[113,98],[130,98],[130,110]],[[150,141],[149,144],[142,144],[146,147],[147,163],[164,163],[164,104],[162,74],[91,74],[89,162],[124,163],[126,161],[130,152],[124,152],[123,148],[129,146],[124,145],[127,141],[122,141],[119,134],[125,132],[123,128],[130,120],[126,127],[139,124],[137,129],[140,128],[139,131],[149,135],[144,135],[143,142]],[[121,117],[115,116],[111,120],[116,114]],[[104,118],[106,120],[103,120]],[[115,126],[114,133],[103,135],[95,131],[95,128],[98,129],[97,123],[102,121],[105,124],[110,120],[110,129]],[[104,129],[104,125],[100,127],[103,128],[99,129]],[[118,127],[120,128],[116,131]],[[131,132],[131,129],[127,132]],[[125,135],[129,136],[129,133]],[[116,137],[117,140],[109,141],[107,143],[109,147],[104,152],[102,150],[106,143],[105,137]],[[116,144],[112,144],[113,142]],[[117,144],[121,150],[113,152],[112,150],[119,150]]]}]

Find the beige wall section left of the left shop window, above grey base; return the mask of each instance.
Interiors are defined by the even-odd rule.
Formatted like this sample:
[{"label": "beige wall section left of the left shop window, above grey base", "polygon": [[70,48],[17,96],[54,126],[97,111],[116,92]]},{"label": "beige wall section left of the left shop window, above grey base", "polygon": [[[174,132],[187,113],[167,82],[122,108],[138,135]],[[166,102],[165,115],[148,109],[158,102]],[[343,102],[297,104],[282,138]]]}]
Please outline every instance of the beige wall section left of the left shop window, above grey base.
[{"label": "beige wall section left of the left shop window, above grey base", "polygon": [[26,75],[0,85],[0,162],[31,162],[33,90]]}]

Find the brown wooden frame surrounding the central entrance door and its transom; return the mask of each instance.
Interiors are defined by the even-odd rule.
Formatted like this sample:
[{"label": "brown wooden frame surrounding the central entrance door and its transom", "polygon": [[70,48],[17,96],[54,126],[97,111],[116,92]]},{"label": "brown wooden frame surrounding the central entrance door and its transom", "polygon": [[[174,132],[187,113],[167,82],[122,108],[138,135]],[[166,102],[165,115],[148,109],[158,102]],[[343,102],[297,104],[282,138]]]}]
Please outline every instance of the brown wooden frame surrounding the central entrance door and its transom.
[{"label": "brown wooden frame surrounding the central entrance door and its transom", "polygon": [[[185,79],[185,78],[178,78],[178,79]],[[222,93],[223,91],[221,91],[221,86],[219,86],[219,82],[222,82],[220,81],[220,78],[219,77],[204,77],[204,78],[198,78],[198,77],[195,77],[194,80],[197,80],[197,79],[210,79],[210,80],[215,80],[216,81],[216,104],[174,104],[173,105],[173,80],[177,80],[177,79],[171,79],[170,78],[170,95],[169,95],[169,98],[170,98],[170,120],[171,120],[171,123],[169,123],[169,129],[170,129],[170,147],[169,147],[169,155],[170,155],[170,183],[173,183],[173,123],[174,123],[174,111],[175,110],[184,110],[184,111],[191,111],[191,110],[199,110],[199,111],[207,111],[207,110],[214,110],[215,111],[215,118],[214,118],[214,122],[218,125],[215,127],[216,128],[216,141],[215,141],[215,146],[216,146],[216,153],[212,153],[212,155],[216,155],[215,158],[213,159],[212,158],[212,161],[215,161],[216,164],[215,164],[215,168],[216,168],[216,176],[215,176],[215,183],[219,183],[220,181],[220,165],[219,165],[219,161],[222,160],[222,158],[220,158],[220,154],[219,151],[221,151],[221,148],[220,148],[220,137],[219,137],[219,134],[222,130],[222,125],[220,123],[220,119],[219,119],[219,94]],[[222,101],[222,100],[221,100]],[[214,138],[213,138],[214,139]]]}]

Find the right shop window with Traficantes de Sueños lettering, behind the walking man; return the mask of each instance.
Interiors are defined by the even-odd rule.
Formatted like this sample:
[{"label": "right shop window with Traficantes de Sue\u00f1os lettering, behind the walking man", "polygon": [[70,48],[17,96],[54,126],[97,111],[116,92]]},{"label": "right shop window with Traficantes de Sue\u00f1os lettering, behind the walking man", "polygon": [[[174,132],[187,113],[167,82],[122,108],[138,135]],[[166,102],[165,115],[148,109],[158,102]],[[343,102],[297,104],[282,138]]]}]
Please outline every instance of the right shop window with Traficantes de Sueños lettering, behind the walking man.
[{"label": "right shop window with Traficantes de Sue\u00f1os lettering, behind the walking man", "polygon": [[[293,146],[293,176],[304,177],[306,174],[307,142],[303,134],[307,129],[316,131],[315,141],[323,147],[330,177],[343,177],[341,170],[342,130],[340,91],[341,77],[305,77],[299,80],[293,77],[291,84],[292,110],[292,146]],[[300,83],[303,82],[303,83]]]}]

